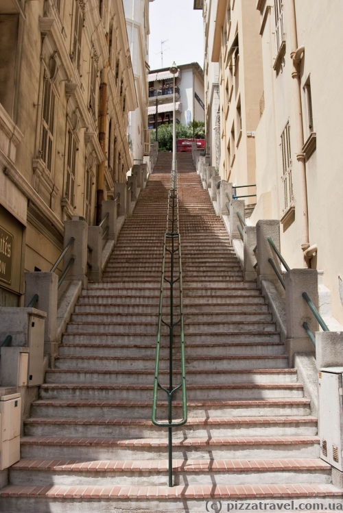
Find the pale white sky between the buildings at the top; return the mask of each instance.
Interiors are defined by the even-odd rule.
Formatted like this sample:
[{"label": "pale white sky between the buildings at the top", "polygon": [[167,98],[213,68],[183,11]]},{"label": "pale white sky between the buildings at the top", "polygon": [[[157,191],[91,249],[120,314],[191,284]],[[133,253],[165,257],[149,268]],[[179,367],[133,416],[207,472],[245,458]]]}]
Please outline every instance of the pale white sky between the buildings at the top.
[{"label": "pale white sky between the buildings at the top", "polygon": [[[150,68],[198,62],[204,66],[202,10],[193,10],[193,0],[154,0],[150,6]],[[163,66],[161,65],[161,41]]]}]

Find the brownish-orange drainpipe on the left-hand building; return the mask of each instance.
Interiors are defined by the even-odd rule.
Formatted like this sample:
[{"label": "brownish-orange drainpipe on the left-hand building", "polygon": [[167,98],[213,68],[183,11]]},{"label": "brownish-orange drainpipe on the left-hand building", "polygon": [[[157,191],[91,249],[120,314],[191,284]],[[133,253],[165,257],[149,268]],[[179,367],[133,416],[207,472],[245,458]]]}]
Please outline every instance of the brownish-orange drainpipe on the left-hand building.
[{"label": "brownish-orange drainpipe on the left-hand building", "polygon": [[[106,124],[107,124],[107,77],[108,64],[102,68],[100,99],[99,99],[99,143],[102,152],[106,153]],[[97,168],[97,210],[96,225],[102,221],[102,200],[104,199],[104,176],[105,176],[105,160],[103,160]]]}]

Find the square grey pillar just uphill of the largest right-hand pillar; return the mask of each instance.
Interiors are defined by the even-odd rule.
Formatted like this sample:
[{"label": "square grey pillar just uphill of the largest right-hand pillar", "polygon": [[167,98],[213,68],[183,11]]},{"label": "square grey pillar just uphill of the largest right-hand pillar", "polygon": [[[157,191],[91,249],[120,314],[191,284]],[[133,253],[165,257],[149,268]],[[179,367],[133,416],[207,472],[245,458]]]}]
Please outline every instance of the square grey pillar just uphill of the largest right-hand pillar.
[{"label": "square grey pillar just uphill of the largest right-hand pillar", "polygon": [[[237,200],[235,200],[237,201]],[[279,284],[279,279],[268,258],[272,258],[277,265],[275,253],[268,242],[271,237],[277,249],[280,251],[280,221],[274,219],[262,219],[257,221],[256,225],[256,242],[257,242],[257,285],[261,286],[261,281],[267,279]],[[279,286],[278,286],[279,289]]]}]

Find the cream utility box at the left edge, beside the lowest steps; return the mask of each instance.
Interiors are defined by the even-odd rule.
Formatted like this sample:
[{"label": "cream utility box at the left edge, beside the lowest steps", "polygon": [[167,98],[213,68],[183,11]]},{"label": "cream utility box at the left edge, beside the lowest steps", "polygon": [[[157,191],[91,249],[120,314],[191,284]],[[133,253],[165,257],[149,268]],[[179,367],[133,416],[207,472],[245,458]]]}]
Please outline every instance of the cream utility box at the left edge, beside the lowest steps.
[{"label": "cream utility box at the left edge, beside the lowest steps", "polygon": [[0,470],[21,457],[21,395],[3,395],[0,399]]}]

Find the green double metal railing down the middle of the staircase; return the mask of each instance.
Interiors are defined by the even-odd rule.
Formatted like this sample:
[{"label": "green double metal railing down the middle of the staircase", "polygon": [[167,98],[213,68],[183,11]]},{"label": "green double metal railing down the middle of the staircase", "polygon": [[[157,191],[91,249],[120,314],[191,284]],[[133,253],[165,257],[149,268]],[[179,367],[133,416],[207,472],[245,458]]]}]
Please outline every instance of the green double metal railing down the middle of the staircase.
[{"label": "green double metal railing down the middle of the staircase", "polygon": [[[176,260],[176,255],[178,258]],[[167,257],[169,258],[168,266],[166,266]],[[178,264],[178,265],[177,265]],[[167,270],[169,276],[167,277]],[[169,288],[165,287],[169,285]],[[178,314],[176,304],[174,304],[174,285],[179,286],[179,305]],[[163,298],[165,289],[169,291],[167,299],[169,299],[169,314],[165,316],[163,313]],[[175,320],[178,316],[177,320]],[[169,320],[167,318],[169,317]],[[159,366],[160,366],[160,353],[161,353],[161,337],[162,328],[166,326],[169,330],[169,386],[164,387],[159,381]],[[181,382],[178,386],[173,384],[173,346],[176,338],[176,327],[180,327],[180,373]],[[172,401],[174,394],[177,390],[182,389],[182,419],[180,421],[173,421],[172,415]],[[163,390],[167,394],[168,403],[168,420],[158,421],[157,416],[157,400],[158,390]],[[152,423],[156,426],[168,428],[168,476],[169,486],[173,486],[173,441],[172,441],[172,427],[182,426],[187,422],[187,391],[186,391],[186,365],[185,365],[185,332],[183,323],[183,303],[182,303],[182,264],[181,264],[181,241],[178,222],[178,173],[171,171],[171,188],[169,189],[168,196],[168,209],[167,209],[167,229],[163,242],[163,260],[162,260],[162,275],[161,275],[161,290],[160,290],[160,303],[158,310],[158,331],[156,343],[156,362],[154,373],[154,392],[152,398]]]}]

